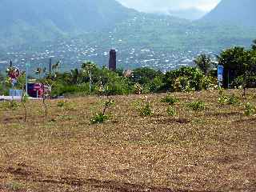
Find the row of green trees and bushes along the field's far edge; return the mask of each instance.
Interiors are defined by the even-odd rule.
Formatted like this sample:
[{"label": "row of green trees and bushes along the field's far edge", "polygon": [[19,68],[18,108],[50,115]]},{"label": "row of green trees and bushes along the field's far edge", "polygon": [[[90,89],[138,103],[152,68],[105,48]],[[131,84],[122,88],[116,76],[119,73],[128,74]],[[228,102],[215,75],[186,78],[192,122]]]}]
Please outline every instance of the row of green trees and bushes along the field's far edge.
[{"label": "row of green trees and bushes along the field's far edge", "polygon": [[[217,61],[217,62],[213,62]],[[94,62],[84,62],[80,69],[59,72],[60,62],[49,73],[38,68],[39,82],[52,86],[52,95],[63,94],[134,94],[166,91],[209,90],[217,87],[217,63],[224,66],[224,86],[255,86],[256,40],[250,50],[234,47],[222,51],[213,60],[202,54],[194,61],[196,67],[182,67],[166,74],[150,68],[132,71],[111,71],[99,68]],[[1,82],[6,79],[0,76]],[[1,83],[4,85],[4,83]],[[10,85],[0,86],[4,91]]]}]

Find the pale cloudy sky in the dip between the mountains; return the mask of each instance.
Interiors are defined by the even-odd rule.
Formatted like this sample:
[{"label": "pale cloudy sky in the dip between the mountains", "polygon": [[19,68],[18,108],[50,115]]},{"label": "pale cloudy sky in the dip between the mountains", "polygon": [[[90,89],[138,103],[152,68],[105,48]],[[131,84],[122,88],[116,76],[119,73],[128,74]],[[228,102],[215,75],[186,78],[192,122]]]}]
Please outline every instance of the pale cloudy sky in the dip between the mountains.
[{"label": "pale cloudy sky in the dip between the mountains", "polygon": [[145,12],[198,8],[209,11],[221,0],[118,0],[123,5]]}]

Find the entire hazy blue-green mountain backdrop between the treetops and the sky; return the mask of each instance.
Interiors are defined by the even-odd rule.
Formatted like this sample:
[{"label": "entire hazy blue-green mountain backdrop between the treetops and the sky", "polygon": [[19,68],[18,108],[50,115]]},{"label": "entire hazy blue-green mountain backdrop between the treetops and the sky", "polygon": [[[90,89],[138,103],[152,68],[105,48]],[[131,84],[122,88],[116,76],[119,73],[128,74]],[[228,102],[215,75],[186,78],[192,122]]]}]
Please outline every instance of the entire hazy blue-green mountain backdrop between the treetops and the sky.
[{"label": "entire hazy blue-green mountain backdrop between the treetops and the sky", "polygon": [[[245,6],[235,18],[230,10],[241,3]],[[148,66],[166,71],[190,66],[198,54],[250,46],[256,34],[254,4],[252,0],[222,0],[209,14],[191,22],[141,13],[114,0],[56,0],[49,4],[4,0],[0,3],[0,67],[10,59],[21,68],[25,62],[47,66],[49,58],[62,60],[62,70],[78,67],[84,60],[105,66],[112,48],[118,50],[118,67],[123,69]]]}]

